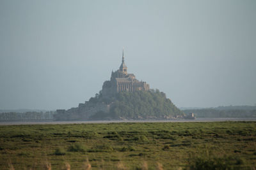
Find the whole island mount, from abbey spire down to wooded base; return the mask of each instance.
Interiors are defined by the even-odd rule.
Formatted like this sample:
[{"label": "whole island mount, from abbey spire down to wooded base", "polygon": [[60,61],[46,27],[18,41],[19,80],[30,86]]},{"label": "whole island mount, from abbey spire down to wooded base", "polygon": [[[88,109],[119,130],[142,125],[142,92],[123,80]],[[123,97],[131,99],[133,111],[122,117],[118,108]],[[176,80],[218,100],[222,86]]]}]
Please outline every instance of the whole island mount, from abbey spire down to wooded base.
[{"label": "whole island mount, from abbey spire down to wooded base", "polygon": [[124,119],[170,119],[184,117],[164,92],[149,89],[145,81],[127,73],[124,63],[102,85],[102,90],[89,101],[79,103],[77,108],[57,110],[54,120],[124,120]]}]

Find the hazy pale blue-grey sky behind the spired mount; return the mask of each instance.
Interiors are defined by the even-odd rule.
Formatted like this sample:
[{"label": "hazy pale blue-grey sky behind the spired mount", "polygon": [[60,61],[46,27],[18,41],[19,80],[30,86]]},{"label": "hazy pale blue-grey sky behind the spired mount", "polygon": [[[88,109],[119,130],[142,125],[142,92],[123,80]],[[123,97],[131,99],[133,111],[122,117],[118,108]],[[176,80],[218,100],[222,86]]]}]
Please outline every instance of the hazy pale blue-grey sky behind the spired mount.
[{"label": "hazy pale blue-grey sky behind the spired mount", "polygon": [[0,109],[68,109],[119,68],[178,107],[256,104],[256,1],[0,1]]}]

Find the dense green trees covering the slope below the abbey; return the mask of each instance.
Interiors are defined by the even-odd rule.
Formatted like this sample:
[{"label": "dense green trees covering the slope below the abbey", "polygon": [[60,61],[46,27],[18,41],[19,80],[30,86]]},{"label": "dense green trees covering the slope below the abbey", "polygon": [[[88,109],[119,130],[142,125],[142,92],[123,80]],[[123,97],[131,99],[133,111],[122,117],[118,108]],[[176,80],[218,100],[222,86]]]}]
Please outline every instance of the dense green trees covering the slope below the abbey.
[{"label": "dense green trees covering the slope below the abbey", "polygon": [[109,113],[99,111],[92,118],[173,118],[182,117],[180,111],[166,95],[159,90],[147,92],[119,92],[115,97],[103,99],[96,96],[90,101],[111,103]]}]

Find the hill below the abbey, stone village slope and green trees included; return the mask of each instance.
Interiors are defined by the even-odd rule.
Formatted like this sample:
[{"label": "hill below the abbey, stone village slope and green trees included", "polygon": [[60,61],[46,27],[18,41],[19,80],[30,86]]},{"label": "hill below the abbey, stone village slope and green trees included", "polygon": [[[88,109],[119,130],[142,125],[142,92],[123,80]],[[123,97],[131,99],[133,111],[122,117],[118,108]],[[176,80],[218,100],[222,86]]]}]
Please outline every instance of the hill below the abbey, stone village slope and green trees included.
[{"label": "hill below the abbey, stone village slope and green trees included", "polygon": [[102,97],[101,92],[84,104],[70,110],[58,110],[55,120],[137,120],[184,117],[166,95],[159,90],[119,92]]}]

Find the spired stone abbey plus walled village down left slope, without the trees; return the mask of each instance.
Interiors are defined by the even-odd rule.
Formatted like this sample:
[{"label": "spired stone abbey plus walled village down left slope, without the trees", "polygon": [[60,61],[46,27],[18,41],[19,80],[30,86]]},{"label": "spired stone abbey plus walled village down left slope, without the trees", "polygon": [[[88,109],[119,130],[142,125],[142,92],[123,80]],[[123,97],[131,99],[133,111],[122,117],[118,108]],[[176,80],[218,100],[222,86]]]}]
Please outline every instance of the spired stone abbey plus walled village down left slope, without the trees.
[{"label": "spired stone abbey plus walled village down left slope, without the trees", "polygon": [[113,117],[111,114],[114,113],[111,108],[116,106],[115,99],[119,92],[146,92],[148,90],[149,85],[145,81],[139,81],[135,78],[134,74],[127,73],[123,49],[121,66],[117,71],[112,71],[110,80],[103,83],[102,90],[100,90],[99,94],[95,94],[95,97],[91,97],[89,101],[79,103],[77,108],[56,110],[57,114],[54,118],[55,120],[81,120],[92,118],[93,115],[101,113],[104,113],[102,118]]}]

